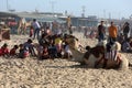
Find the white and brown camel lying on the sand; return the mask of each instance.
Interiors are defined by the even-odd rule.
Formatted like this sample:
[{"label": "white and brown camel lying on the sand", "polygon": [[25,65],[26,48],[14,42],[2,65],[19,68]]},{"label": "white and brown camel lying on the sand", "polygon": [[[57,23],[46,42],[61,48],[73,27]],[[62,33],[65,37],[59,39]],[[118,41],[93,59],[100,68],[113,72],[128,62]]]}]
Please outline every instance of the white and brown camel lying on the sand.
[{"label": "white and brown camel lying on the sand", "polygon": [[[99,59],[102,59],[103,57],[105,50],[106,50],[105,47],[106,42],[100,43],[99,45],[95,47],[88,46],[87,47],[88,51],[86,53],[81,53],[80,51],[77,50],[78,41],[75,37],[68,38],[68,43],[70,46],[70,51],[73,52],[73,58],[72,58],[73,62],[78,62],[80,64],[87,64],[88,67],[95,68],[96,63]],[[112,48],[120,51],[121,44],[116,42]],[[128,69],[129,68],[128,58],[121,53],[118,53],[118,56],[120,57],[120,64],[117,64],[116,61],[108,59],[107,68],[118,67],[119,69]],[[103,64],[103,61],[100,62],[100,66],[102,66],[102,64]]]}]

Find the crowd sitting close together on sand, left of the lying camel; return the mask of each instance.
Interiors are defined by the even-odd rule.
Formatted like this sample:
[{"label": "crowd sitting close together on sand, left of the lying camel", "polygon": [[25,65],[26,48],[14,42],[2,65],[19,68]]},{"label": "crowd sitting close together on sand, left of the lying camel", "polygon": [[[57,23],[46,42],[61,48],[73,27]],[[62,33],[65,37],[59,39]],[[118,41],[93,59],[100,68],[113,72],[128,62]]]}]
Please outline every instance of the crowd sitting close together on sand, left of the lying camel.
[{"label": "crowd sitting close together on sand, left of the lying camel", "polygon": [[[35,30],[38,31],[38,28]],[[67,38],[73,35],[53,34],[50,32],[48,26],[44,30],[44,32],[42,32],[41,35],[36,32],[36,35],[37,38],[33,35],[32,38],[29,38],[25,43],[14,45],[11,50],[9,50],[8,44],[3,44],[0,48],[0,56],[16,56],[19,58],[35,56],[38,57],[38,59],[54,59],[58,57],[69,58],[73,56],[67,42]],[[37,40],[37,43],[33,42],[34,38]]]}]

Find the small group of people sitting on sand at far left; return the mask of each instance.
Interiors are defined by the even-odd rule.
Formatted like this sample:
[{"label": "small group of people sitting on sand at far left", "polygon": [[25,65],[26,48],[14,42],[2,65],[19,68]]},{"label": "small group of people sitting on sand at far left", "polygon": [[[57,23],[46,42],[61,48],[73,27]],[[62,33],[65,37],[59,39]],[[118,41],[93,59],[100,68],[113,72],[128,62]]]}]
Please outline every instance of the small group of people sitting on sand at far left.
[{"label": "small group of people sitting on sand at far left", "polygon": [[[16,52],[19,50],[19,52]],[[1,48],[0,48],[0,56],[4,57],[20,57],[20,58],[25,58],[29,55],[34,56],[35,51],[32,45],[32,40],[28,40],[28,42],[20,44],[20,45],[14,45],[11,50],[9,50],[8,44],[4,43]]]}]

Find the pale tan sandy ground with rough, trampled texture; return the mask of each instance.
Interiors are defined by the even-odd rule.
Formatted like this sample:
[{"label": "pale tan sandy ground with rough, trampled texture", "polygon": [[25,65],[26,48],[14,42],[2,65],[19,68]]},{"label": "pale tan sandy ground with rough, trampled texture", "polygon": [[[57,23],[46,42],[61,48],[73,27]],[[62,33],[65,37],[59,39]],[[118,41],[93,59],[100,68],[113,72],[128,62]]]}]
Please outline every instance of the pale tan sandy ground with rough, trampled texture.
[{"label": "pale tan sandy ground with rough, trampled texture", "polygon": [[[97,40],[84,38],[80,43],[94,46]],[[25,42],[28,36],[12,35],[9,47]],[[132,54],[125,54],[132,63]],[[0,88],[132,88],[132,68],[129,70],[95,69],[66,59],[37,61],[0,57]]]}]

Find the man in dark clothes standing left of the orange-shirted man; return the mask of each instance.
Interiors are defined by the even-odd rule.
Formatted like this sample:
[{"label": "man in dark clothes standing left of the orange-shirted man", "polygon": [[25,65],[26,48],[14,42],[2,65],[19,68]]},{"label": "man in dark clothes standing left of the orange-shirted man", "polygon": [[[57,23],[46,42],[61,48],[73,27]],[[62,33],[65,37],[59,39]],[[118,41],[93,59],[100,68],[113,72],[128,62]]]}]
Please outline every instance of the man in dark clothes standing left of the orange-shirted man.
[{"label": "man in dark clothes standing left of the orange-shirted man", "polygon": [[101,24],[98,26],[98,41],[101,42],[105,40],[106,35],[106,28],[103,25],[103,21],[101,21]]}]

